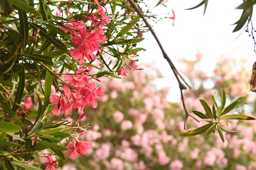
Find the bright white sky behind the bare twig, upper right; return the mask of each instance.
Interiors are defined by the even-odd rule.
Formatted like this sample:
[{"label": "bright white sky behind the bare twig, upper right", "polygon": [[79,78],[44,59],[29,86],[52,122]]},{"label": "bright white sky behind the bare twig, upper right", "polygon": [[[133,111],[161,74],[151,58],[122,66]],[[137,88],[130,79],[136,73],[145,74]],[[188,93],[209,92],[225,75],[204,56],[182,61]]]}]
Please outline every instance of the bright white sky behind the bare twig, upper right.
[{"label": "bright white sky behind the bare twig, upper right", "polygon": [[[242,3],[242,0],[209,0],[204,16],[204,5],[193,10],[184,10],[200,2],[201,0],[169,0],[166,4],[167,8],[160,5],[153,9],[155,14],[169,13],[168,17],[172,17],[172,9],[175,11],[174,27],[171,19],[152,25],[177,70],[180,68],[177,59],[194,59],[197,50],[204,55],[204,64],[201,68],[207,72],[212,72],[214,63],[220,59],[221,54],[230,58],[244,57],[251,62],[248,67],[252,67],[256,61],[253,40],[245,31],[241,34],[244,28],[232,33],[235,26],[231,24],[239,20],[242,13],[242,10],[235,8]],[[155,6],[157,1],[149,0],[149,4]],[[239,34],[241,36],[236,39]],[[156,82],[157,88],[171,87],[169,101],[179,101],[180,91],[177,80],[168,63],[163,59],[157,42],[150,33],[143,34],[143,37],[145,40],[140,43],[140,47],[147,51],[140,52],[140,62],[154,62],[165,77]]]}]

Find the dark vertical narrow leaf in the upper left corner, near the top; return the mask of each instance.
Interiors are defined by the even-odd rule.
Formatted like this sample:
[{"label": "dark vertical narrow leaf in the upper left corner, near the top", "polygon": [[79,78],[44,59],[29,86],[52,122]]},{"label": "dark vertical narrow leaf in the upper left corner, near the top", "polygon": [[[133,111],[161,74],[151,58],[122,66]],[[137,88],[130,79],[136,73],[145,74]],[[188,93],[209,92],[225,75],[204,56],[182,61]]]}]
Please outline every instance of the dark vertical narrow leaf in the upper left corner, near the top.
[{"label": "dark vertical narrow leaf in the upper left corner, near the top", "polygon": [[29,37],[29,22],[26,12],[18,8],[18,14],[20,18],[20,35],[23,41]]}]

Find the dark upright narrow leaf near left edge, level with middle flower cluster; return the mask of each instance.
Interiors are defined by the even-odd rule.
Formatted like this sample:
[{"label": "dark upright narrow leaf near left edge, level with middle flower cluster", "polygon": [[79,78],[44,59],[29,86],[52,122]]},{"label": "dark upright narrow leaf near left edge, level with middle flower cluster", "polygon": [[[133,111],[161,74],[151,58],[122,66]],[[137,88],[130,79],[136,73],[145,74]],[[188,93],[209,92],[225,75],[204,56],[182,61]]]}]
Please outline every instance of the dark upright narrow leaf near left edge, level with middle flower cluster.
[{"label": "dark upright narrow leaf near left edge, level with middle flower cluster", "polygon": [[12,107],[13,112],[16,112],[16,110],[19,108],[17,104],[20,104],[22,97],[23,97],[23,92],[25,88],[25,68],[23,67],[22,70],[20,71],[20,82],[16,91],[15,95],[15,100],[14,100],[14,105]]}]

